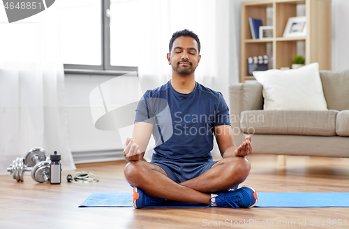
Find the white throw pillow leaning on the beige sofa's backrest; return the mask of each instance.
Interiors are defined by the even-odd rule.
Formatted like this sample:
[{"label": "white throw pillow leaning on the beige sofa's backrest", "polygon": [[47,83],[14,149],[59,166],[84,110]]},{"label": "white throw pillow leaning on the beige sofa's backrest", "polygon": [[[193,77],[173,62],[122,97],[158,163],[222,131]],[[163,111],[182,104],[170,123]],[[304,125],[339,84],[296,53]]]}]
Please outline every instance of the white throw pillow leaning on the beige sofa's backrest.
[{"label": "white throw pillow leaning on the beige sofa's backrest", "polygon": [[253,72],[263,85],[264,110],[327,110],[319,64]]}]

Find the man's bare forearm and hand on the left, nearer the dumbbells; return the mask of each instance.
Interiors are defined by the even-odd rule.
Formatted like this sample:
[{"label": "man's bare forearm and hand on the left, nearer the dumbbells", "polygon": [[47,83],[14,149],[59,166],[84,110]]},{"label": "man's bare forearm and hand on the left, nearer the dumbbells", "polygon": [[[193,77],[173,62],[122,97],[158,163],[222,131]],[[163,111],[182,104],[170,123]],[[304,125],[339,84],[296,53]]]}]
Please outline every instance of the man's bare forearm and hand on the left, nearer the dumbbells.
[{"label": "man's bare forearm and hand on the left, nearer the dumbbells", "polygon": [[127,162],[143,159],[152,130],[153,124],[141,121],[135,123],[132,137],[127,138],[124,144],[124,156]]}]

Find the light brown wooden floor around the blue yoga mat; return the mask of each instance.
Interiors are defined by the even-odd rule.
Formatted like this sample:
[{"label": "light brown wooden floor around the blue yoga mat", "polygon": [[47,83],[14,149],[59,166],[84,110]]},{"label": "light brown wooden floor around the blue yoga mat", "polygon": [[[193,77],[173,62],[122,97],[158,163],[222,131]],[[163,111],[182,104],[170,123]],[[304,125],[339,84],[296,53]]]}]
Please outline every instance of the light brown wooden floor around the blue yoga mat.
[{"label": "light brown wooden floor around the blue yoga mat", "polygon": [[[252,168],[244,183],[258,192],[349,191],[349,158],[286,158],[287,165],[278,168],[276,156],[248,156]],[[38,184],[30,175],[20,183],[10,175],[0,176],[0,228],[216,228],[219,221],[232,221],[226,228],[349,228],[349,208],[77,207],[93,192],[131,192],[124,179],[124,165],[124,161],[77,165],[77,171],[94,172],[100,179],[91,184],[67,183],[65,177],[74,171],[62,172],[61,185]],[[323,220],[339,219],[347,225],[321,225]],[[314,226],[310,225],[312,220]],[[246,224],[238,227],[236,222],[234,226],[235,221]],[[299,222],[306,227],[300,227]],[[320,226],[316,227],[316,222]]]}]

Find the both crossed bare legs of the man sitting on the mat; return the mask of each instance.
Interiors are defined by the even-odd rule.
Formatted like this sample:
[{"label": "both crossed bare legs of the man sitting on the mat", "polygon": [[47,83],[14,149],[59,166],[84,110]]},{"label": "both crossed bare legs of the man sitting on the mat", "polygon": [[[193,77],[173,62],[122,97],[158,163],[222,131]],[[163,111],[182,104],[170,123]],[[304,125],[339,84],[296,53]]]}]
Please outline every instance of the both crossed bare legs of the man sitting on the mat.
[{"label": "both crossed bare legs of the man sitting on the mat", "polygon": [[126,179],[148,195],[181,202],[211,204],[215,191],[230,189],[244,182],[250,171],[250,163],[242,157],[224,158],[199,177],[181,184],[168,178],[158,165],[144,161],[131,161],[124,169]]}]

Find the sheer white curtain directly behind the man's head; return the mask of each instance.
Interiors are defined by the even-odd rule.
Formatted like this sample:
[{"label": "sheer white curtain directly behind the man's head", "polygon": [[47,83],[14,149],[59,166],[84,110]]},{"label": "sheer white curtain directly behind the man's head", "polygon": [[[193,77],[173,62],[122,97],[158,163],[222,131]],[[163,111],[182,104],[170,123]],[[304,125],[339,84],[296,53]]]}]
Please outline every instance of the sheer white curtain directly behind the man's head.
[{"label": "sheer white curtain directly behind the man's head", "polygon": [[189,29],[198,34],[201,43],[195,80],[221,91],[228,102],[228,84],[238,82],[238,34],[232,1],[144,0],[140,4],[142,87],[153,89],[170,80],[168,43],[175,31]]}]

